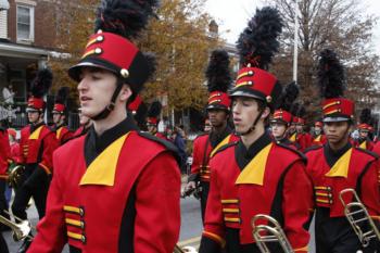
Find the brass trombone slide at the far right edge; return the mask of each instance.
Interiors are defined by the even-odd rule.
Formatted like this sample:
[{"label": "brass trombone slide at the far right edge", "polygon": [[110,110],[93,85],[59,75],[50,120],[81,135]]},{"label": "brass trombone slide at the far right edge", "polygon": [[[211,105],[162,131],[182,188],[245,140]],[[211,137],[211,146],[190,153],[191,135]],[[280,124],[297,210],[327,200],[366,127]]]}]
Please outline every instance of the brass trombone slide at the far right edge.
[{"label": "brass trombone slide at the far right edge", "polygon": [[[346,193],[352,193],[353,195],[351,203],[345,203],[343,200],[343,195]],[[376,227],[372,218],[369,216],[366,206],[362,203],[356,191],[351,188],[344,189],[340,192],[339,199],[344,206],[344,215],[349,219],[349,223],[354,229],[356,236],[359,238],[363,246],[368,246],[372,238],[380,241],[379,229]],[[363,226],[360,227],[359,224],[366,223],[369,225],[369,229],[367,231],[364,231]]]}]

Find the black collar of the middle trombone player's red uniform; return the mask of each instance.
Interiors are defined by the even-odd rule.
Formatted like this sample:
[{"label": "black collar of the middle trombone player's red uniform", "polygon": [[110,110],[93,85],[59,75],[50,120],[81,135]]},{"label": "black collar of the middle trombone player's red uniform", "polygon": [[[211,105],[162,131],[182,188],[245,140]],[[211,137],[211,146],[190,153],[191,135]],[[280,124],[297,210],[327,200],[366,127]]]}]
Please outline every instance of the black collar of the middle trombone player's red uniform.
[{"label": "black collar of the middle trombone player's red uniform", "polygon": [[256,154],[271,142],[270,136],[264,132],[249,149],[245,148],[242,140],[239,140],[235,149],[235,159],[240,167],[243,169],[249,162],[256,156]]}]

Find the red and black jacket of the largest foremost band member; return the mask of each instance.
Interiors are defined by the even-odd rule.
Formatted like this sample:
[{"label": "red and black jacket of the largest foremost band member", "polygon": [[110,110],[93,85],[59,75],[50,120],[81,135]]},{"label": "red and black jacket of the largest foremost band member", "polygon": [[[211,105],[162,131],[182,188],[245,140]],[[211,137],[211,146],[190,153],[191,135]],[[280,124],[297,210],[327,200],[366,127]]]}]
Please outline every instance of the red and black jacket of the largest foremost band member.
[{"label": "red and black jacket of the largest foremost band member", "polygon": [[129,117],[54,153],[47,213],[28,253],[173,253],[180,227],[175,149]]}]

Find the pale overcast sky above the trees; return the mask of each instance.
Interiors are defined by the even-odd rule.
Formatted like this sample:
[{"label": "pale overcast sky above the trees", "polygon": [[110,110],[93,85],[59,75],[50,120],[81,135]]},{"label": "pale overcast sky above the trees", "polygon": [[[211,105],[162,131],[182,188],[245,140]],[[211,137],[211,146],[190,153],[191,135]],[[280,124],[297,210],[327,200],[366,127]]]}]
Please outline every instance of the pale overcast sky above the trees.
[{"label": "pale overcast sky above the trees", "polygon": [[[377,14],[377,11],[380,10],[379,0],[364,0],[360,2],[368,5],[368,13]],[[246,26],[246,22],[254,14],[256,7],[263,7],[261,0],[206,0],[207,12],[218,23],[221,36],[231,43],[237,41],[239,34]],[[380,15],[380,13],[377,15]],[[373,33],[376,35],[373,45],[380,54],[380,21]]]}]

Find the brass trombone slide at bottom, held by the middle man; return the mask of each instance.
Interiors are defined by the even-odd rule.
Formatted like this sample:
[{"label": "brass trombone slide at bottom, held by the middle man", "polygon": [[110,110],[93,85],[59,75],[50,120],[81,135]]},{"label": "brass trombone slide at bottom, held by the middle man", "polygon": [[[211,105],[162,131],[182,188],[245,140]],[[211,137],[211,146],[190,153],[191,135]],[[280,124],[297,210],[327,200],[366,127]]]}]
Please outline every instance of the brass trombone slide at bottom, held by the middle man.
[{"label": "brass trombone slide at bottom, held by the middle man", "polygon": [[[267,225],[257,225],[257,220],[264,220]],[[253,238],[262,253],[270,253],[267,243],[278,242],[284,253],[294,253],[280,224],[269,215],[257,214],[252,218]]]}]

